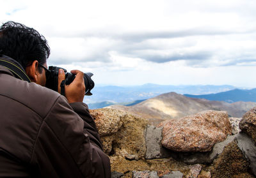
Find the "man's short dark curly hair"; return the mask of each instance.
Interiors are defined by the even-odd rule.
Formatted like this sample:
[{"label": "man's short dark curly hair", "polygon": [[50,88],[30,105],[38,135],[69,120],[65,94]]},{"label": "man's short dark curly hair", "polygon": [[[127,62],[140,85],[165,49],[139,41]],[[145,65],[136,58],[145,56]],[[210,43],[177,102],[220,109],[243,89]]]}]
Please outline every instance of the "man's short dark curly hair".
[{"label": "man's short dark curly hair", "polygon": [[35,29],[9,21],[0,27],[0,54],[12,57],[25,69],[35,60],[44,64],[50,47]]}]

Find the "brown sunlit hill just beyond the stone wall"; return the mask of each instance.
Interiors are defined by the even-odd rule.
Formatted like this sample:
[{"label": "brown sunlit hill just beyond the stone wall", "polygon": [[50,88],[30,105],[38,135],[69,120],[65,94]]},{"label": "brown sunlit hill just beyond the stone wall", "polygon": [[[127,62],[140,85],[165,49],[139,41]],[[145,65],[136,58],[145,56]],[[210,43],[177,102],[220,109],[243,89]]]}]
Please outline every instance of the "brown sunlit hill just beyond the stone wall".
[{"label": "brown sunlit hill just beyond the stone wall", "polygon": [[209,101],[199,98],[189,98],[173,92],[161,94],[137,105],[132,105],[131,107],[122,105],[109,106],[109,108],[125,110],[147,118],[151,124],[155,125],[166,119],[184,117],[204,110],[225,110],[232,117],[242,117],[245,112],[253,107],[256,107],[256,103],[243,101],[236,103]]}]

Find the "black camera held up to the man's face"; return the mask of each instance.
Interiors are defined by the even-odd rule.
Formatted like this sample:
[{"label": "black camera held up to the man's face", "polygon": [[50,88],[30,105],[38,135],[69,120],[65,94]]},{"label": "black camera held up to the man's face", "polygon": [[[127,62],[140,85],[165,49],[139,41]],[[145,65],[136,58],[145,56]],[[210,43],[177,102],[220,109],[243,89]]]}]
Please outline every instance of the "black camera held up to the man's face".
[{"label": "black camera held up to the man's face", "polygon": [[[65,72],[65,84],[69,85],[76,78],[73,73],[67,72],[64,68],[59,68],[56,66],[49,66],[49,72],[47,73],[46,85],[45,87],[58,92],[58,74],[59,70],[62,69]],[[91,96],[91,90],[94,87],[94,82],[92,80],[93,73],[84,73],[84,85],[85,85],[85,95]]]}]

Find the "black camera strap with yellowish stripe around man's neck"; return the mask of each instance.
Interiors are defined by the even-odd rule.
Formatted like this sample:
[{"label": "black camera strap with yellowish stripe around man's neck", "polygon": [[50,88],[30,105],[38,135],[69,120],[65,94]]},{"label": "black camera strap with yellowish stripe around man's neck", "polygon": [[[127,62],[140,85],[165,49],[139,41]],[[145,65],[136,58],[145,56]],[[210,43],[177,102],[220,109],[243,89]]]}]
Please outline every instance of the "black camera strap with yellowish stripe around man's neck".
[{"label": "black camera strap with yellowish stripe around man's neck", "polygon": [[12,58],[0,55],[0,65],[10,70],[16,78],[20,78],[20,80],[31,82],[22,66],[20,66],[20,64]]}]

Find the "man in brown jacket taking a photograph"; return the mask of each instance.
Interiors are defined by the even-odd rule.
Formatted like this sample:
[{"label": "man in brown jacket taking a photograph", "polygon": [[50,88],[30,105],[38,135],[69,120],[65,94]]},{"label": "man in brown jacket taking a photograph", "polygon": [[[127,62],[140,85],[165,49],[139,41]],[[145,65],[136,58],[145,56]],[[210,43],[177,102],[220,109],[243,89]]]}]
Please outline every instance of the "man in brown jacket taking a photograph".
[{"label": "man in brown jacket taking a photograph", "polygon": [[[47,89],[49,54],[35,29],[1,26],[0,177],[110,177],[109,158],[82,102],[83,72],[71,71],[76,78],[65,85],[65,96]],[[60,91],[63,70],[58,78]]]}]

